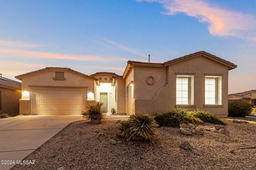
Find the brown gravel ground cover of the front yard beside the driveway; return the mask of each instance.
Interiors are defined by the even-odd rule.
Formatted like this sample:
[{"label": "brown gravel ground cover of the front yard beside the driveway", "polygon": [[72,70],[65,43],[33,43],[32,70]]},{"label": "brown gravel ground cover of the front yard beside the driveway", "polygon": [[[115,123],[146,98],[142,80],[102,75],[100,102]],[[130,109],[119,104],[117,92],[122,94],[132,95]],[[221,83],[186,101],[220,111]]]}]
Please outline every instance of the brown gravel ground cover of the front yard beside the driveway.
[{"label": "brown gravel ground cover of the front yard beside the driveway", "polygon": [[[255,122],[223,119],[228,123],[227,134],[204,131],[204,135],[191,136],[180,134],[178,128],[162,127],[151,142],[126,142],[116,137],[116,121],[71,123],[25,158],[36,160],[35,165],[12,169],[256,169],[256,149],[233,150],[226,145],[256,145]],[[179,147],[183,140],[190,142],[193,151]]]}]

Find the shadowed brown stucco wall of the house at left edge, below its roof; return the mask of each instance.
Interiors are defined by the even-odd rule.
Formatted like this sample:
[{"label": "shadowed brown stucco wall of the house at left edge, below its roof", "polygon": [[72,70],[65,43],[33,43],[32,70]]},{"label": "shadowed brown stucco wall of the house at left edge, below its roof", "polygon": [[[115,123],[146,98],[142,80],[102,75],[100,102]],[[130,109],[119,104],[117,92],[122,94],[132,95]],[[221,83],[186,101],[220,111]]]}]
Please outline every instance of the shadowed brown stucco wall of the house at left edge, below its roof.
[{"label": "shadowed brown stucco wall of the house at left edge, below its roof", "polygon": [[0,113],[5,112],[9,114],[9,116],[18,115],[21,91],[6,88],[0,88],[0,91],[2,91],[2,109],[0,110]]}]

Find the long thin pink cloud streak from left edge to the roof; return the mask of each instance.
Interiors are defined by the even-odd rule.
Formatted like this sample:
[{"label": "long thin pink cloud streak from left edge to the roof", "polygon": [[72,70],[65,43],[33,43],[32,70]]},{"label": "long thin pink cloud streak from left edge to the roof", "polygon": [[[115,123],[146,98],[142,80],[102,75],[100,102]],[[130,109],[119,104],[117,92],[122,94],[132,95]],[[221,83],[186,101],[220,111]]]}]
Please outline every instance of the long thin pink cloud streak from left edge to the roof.
[{"label": "long thin pink cloud streak from left edge to the roof", "polygon": [[76,61],[92,61],[92,62],[124,62],[126,58],[113,58],[107,56],[93,56],[93,55],[67,55],[57,53],[35,52],[31,50],[17,50],[17,49],[0,49],[0,53],[12,54],[12,57],[29,57],[29,58],[48,58],[58,60],[76,60]]}]

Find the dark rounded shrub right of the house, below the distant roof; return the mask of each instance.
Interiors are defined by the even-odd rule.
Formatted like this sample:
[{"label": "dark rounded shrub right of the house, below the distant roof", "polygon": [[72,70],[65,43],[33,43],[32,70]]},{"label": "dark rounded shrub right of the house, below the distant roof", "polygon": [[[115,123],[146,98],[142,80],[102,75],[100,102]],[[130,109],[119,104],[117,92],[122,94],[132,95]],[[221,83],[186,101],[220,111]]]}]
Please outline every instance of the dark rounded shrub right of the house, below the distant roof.
[{"label": "dark rounded shrub right of the house, below the distant roof", "polygon": [[252,105],[244,102],[234,102],[228,105],[228,115],[233,117],[245,117],[251,113]]}]

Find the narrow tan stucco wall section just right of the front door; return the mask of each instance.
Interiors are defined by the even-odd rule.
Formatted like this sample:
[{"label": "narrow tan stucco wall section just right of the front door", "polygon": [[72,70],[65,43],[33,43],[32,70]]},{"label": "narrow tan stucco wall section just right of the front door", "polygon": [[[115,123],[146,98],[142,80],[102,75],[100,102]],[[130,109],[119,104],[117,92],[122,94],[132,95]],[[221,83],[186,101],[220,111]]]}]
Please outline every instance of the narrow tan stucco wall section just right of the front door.
[{"label": "narrow tan stucco wall section just right of the front door", "polygon": [[125,81],[123,79],[117,79],[116,92],[117,114],[125,114]]}]

